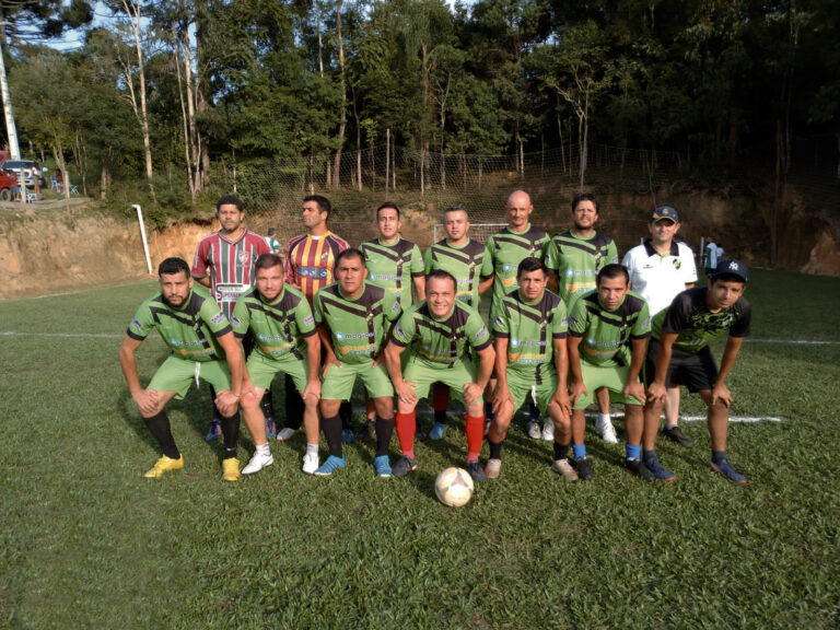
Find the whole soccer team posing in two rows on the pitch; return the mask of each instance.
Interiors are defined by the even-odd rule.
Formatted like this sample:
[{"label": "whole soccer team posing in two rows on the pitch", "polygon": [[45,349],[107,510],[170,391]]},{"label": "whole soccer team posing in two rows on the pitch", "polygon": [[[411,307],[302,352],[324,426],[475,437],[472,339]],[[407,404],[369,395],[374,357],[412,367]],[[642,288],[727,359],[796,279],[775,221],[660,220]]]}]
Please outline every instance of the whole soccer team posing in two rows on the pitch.
[{"label": "whole soccer team posing in two rows on the pitch", "polygon": [[[466,469],[476,482],[500,476],[502,445],[525,402],[528,434],[553,442],[551,467],[563,479],[594,476],[586,407],[597,402],[597,430],[618,442],[614,402],[625,406],[625,468],[669,481],[655,441],[664,410],[662,434],[692,446],[678,424],[682,385],[708,407],[711,469],[747,482],[726,459],[726,377],[750,324],[747,268],[721,260],[707,269],[707,285],[695,287],[693,254],[675,238],[674,208],[653,211],[650,237],[622,264],[614,241],[595,230],[591,194],[575,196],[573,228],[552,238],[532,225],[530,198],[516,190],[505,205],[508,226],[483,245],[469,238],[467,210],[451,206],[446,237],[424,255],[400,236],[395,203],[376,210],[378,236],[358,248],[329,231],[330,210],[323,196],[304,198],[305,233],[289,241],[283,258],[273,231],[264,238],[246,230],[241,200],[226,195],[217,203],[220,230],[201,241],[191,268],[180,258],[160,264],[160,292],[138,308],[120,348],[131,396],[162,450],[145,477],[184,466],[165,408],[206,381],[214,401],[206,439],[222,439],[229,481],[271,465],[269,439],[288,441],[301,424],[304,472],[335,474],[346,465],[342,442],[366,436],[376,442],[376,476],[404,477],[418,466],[416,439],[443,439],[450,396],[465,409]],[[485,322],[478,305],[490,290]],[[143,387],[136,351],[153,329],[172,353]],[[724,336],[719,369],[709,343]],[[278,431],[270,388],[279,373],[287,396]],[[348,401],[357,380],[368,420],[354,434]],[[416,411],[430,396],[434,424],[425,435]],[[255,444],[242,470],[240,410]],[[401,457],[392,467],[395,429]]]}]

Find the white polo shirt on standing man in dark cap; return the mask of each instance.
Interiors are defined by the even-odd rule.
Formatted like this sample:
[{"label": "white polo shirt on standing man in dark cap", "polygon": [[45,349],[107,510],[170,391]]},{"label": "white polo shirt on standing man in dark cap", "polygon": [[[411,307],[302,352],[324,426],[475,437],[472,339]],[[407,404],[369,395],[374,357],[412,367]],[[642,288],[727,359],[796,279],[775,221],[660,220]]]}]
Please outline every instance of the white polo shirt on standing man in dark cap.
[{"label": "white polo shirt on standing man in dark cap", "polygon": [[625,254],[621,264],[630,272],[633,291],[648,301],[651,315],[670,306],[686,284],[697,282],[695,255],[685,243],[673,242],[670,252],[663,256],[648,240]]}]

